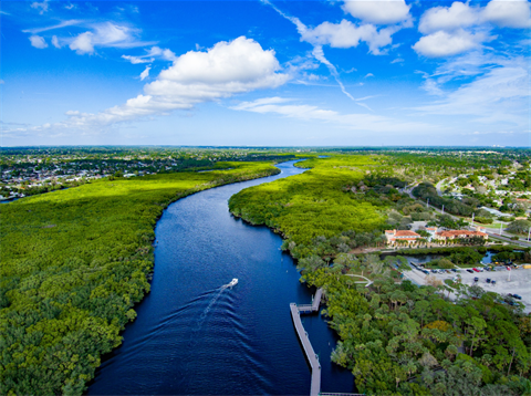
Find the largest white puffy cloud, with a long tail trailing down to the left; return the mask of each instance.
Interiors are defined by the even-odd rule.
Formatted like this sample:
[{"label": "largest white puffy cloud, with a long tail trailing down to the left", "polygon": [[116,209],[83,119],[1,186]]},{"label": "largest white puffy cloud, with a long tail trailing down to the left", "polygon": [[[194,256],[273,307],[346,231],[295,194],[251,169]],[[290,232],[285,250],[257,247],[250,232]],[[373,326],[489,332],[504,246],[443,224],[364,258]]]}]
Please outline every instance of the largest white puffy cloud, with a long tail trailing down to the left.
[{"label": "largest white puffy cloud, with a long tail trailing down to the left", "polygon": [[[146,76],[148,69],[144,71]],[[240,37],[231,42],[221,41],[208,51],[190,51],[176,56],[170,67],[144,86],[144,94],[125,104],[97,114],[67,112],[64,122],[33,129],[97,131],[145,116],[189,110],[198,103],[282,85],[290,75],[279,72],[280,69],[274,51],[263,50],[252,39]]]}]

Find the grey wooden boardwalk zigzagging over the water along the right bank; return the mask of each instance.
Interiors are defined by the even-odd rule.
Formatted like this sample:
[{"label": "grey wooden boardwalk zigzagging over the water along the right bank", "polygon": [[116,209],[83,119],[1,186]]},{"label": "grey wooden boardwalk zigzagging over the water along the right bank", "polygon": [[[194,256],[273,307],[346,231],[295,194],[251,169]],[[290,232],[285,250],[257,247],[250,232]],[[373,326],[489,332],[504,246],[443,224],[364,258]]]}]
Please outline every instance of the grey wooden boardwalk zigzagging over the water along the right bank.
[{"label": "grey wooden boardwalk zigzagging over the water along the right bank", "polygon": [[306,354],[308,362],[312,367],[312,384],[310,386],[310,396],[346,396],[346,395],[360,395],[360,394],[343,394],[343,393],[321,393],[321,363],[319,363],[319,356],[313,351],[312,343],[308,337],[308,333],[304,330],[301,322],[302,313],[313,313],[319,311],[321,305],[321,298],[323,290],[317,289],[313,302],[311,304],[296,305],[294,302],[290,303],[291,317],[293,319],[293,325],[295,326],[296,335],[301,341],[304,353]]}]

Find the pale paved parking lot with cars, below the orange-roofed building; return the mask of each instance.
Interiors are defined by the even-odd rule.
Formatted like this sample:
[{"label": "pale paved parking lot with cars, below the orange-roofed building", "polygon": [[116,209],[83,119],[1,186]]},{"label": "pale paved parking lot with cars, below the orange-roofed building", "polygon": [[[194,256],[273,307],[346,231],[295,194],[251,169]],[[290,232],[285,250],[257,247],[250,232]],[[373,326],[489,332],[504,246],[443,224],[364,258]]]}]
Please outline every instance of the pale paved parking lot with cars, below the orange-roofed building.
[{"label": "pale paved parking lot with cars, below the orange-roofed building", "polygon": [[[469,273],[467,270],[460,269],[457,272],[461,275],[462,283],[472,285],[473,278],[478,278],[477,284],[485,291],[496,292],[499,294],[519,294],[522,296],[520,301],[525,305],[523,312],[531,312],[531,269],[511,269],[508,271],[506,267],[498,267],[496,271],[483,271]],[[421,271],[413,269],[404,273],[407,279],[410,279],[417,284],[425,284],[426,274]],[[455,272],[450,273],[430,273],[430,275],[445,281],[456,277]],[[487,279],[494,280],[496,285],[487,283]]]}]

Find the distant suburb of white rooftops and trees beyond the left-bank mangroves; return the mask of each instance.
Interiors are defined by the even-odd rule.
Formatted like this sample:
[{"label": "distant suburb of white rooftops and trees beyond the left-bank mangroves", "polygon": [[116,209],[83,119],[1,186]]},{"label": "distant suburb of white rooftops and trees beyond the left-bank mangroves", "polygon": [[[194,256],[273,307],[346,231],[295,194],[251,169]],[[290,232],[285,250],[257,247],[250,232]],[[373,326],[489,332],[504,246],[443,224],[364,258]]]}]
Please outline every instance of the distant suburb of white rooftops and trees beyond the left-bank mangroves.
[{"label": "distant suburb of white rooftops and trees beyond the left-bank mangroves", "polygon": [[189,147],[0,147],[0,199],[77,187],[102,177],[219,168],[223,161],[294,159],[282,149]]}]

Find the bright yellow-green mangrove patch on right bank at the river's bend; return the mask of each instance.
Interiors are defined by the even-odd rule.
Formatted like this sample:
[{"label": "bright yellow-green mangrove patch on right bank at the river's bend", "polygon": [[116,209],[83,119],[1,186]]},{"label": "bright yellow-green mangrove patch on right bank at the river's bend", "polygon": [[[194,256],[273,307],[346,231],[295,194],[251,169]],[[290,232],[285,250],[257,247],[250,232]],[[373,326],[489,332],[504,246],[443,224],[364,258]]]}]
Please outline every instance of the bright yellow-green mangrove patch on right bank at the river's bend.
[{"label": "bright yellow-green mangrove patch on right bank at the river's bend", "polygon": [[321,251],[325,256],[326,246],[348,250],[383,243],[386,204],[377,208],[344,190],[362,180],[366,170],[379,167],[378,157],[334,156],[304,160],[298,166],[312,169],[240,191],[229,200],[231,212],[282,232],[285,246],[296,258]]}]

